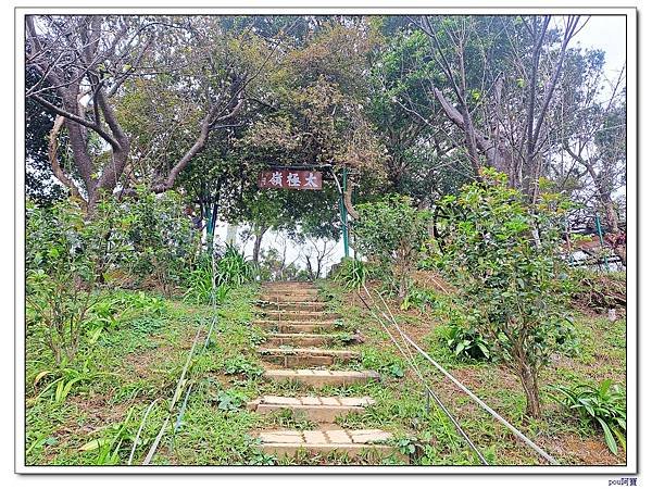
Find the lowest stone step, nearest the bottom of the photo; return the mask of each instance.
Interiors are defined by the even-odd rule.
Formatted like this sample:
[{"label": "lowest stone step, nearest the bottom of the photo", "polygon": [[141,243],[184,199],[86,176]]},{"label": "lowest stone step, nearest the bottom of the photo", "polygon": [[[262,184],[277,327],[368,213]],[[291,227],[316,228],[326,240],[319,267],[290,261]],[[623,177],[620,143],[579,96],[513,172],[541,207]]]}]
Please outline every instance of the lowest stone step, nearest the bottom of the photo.
[{"label": "lowest stone step, nearest the bottom of the photo", "polygon": [[261,431],[258,437],[263,452],[276,456],[293,456],[299,451],[312,454],[337,452],[351,457],[369,452],[389,456],[396,452],[389,444],[378,444],[391,438],[389,432],[380,429],[277,430]]}]

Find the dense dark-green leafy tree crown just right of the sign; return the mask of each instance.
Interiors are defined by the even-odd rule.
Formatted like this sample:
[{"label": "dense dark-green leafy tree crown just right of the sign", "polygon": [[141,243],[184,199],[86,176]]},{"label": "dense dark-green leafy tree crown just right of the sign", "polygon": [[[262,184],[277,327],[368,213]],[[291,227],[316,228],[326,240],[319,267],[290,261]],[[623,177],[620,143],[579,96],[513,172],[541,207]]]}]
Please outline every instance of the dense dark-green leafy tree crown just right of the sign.
[{"label": "dense dark-green leafy tree crown just right of the sign", "polygon": [[377,21],[384,36],[369,74],[368,113],[388,150],[389,191],[430,206],[474,174],[466,152],[459,149],[463,140],[432,108],[431,86],[443,78],[429,54],[427,36],[410,21],[397,26],[396,18]]}]

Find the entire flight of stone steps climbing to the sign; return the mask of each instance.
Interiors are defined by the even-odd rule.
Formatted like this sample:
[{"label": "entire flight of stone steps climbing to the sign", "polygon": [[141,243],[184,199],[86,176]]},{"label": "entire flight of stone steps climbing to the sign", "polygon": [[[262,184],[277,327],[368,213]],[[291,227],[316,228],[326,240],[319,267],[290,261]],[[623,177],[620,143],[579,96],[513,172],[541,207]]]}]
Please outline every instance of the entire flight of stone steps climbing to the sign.
[{"label": "entire flight of stone steps climbing to the sign", "polygon": [[[374,404],[369,397],[321,397],[314,393],[324,386],[350,386],[379,380],[374,371],[346,369],[346,364],[360,354],[347,348],[335,348],[341,338],[341,318],[326,311],[317,288],[311,283],[279,281],[263,285],[260,301],[261,319],[256,324],[266,331],[259,353],[266,363],[278,367],[265,369],[267,393],[251,401],[248,408],[261,414],[286,410],[293,417],[317,423],[312,430],[264,430],[254,434],[262,440],[265,453],[294,456],[298,452],[346,453],[355,459],[375,452],[378,456],[396,453],[386,441],[389,432],[380,429],[343,429],[338,416],[361,412]],[[340,321],[338,321],[340,319]],[[338,335],[338,333],[340,335]],[[337,365],[338,368],[334,368]],[[344,368],[344,369],[342,369]],[[298,397],[278,396],[283,384],[301,386]],[[313,388],[313,393],[305,392]]]}]

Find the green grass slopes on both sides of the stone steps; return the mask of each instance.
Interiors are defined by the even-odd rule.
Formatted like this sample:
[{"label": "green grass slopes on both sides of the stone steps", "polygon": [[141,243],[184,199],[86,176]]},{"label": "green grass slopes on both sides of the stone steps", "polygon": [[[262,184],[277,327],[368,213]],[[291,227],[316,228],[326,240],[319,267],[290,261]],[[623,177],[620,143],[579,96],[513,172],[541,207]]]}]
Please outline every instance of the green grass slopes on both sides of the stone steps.
[{"label": "green grass slopes on both sides of the stone steps", "polygon": [[[347,388],[305,388],[285,384],[275,394],[296,396],[369,396],[376,403],[363,413],[338,419],[346,428],[383,428],[392,434],[397,450],[413,464],[477,464],[473,451],[437,406],[427,399],[425,389],[409,363],[397,351],[386,331],[365,311],[354,292],[344,292],[328,280],[318,283],[321,294],[328,298],[328,310],[344,317],[340,333],[360,331],[362,359],[338,363],[336,368],[375,369],[380,383]],[[115,292],[129,294],[128,292]],[[203,353],[196,353],[189,375],[192,394],[180,424],[173,434],[167,429],[152,464],[184,465],[267,465],[267,464],[348,464],[343,455],[294,459],[264,455],[259,440],[251,434],[260,429],[311,429],[314,424],[296,418],[289,412],[262,416],[246,409],[259,396],[272,393],[260,376],[264,364],[256,348],[264,334],[252,325],[255,317],[255,286],[229,292],[218,309],[217,327]],[[129,299],[130,300],[130,299]],[[57,371],[52,355],[39,340],[38,331],[27,336],[27,463],[32,465],[126,464],[131,444],[150,403],[159,399],[145,424],[135,451],[135,464],[145,457],[163,421],[176,381],[181,373],[198,328],[211,321],[210,306],[189,305],[175,300],[160,300],[149,308],[139,296],[129,314],[102,331],[95,343],[85,342],[78,361],[86,363],[88,375],[76,383],[63,402],[42,390],[48,374],[34,385],[41,372]],[[149,309],[148,309],[149,308]],[[525,416],[525,399],[516,377],[503,365],[455,358],[441,341],[441,324],[447,321],[448,298],[440,296],[424,313],[393,313],[406,333],[428,350],[446,368],[474,390],[517,428],[540,443],[553,456],[567,464],[616,464],[625,460],[624,451],[612,455],[601,434],[581,424],[546,394],[542,419],[534,423]],[[601,317],[577,312],[575,328],[579,352],[576,356],[559,355],[541,378],[542,390],[553,384],[599,381],[613,378],[625,384],[625,322],[610,323]],[[203,346],[204,337],[201,337]],[[423,359],[417,364],[437,396],[454,414],[484,456],[492,464],[539,464],[531,450],[518,442],[490,415],[463,396]],[[42,396],[41,396],[42,394]],[[172,426],[176,425],[176,404]],[[89,448],[82,450],[84,447]],[[379,459],[369,451],[355,463],[396,464],[397,457]]]}]

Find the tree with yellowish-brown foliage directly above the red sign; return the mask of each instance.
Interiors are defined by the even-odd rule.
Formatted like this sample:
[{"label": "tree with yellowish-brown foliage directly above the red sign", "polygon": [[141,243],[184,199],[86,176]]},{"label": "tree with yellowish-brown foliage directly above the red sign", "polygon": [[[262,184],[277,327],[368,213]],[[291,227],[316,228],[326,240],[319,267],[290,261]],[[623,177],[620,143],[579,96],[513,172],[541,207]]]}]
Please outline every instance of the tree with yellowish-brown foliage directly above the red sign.
[{"label": "tree with yellowish-brown foliage directly above the red sign", "polygon": [[[344,197],[352,215],[355,189],[383,188],[386,152],[367,116],[374,46],[366,18],[323,20],[281,60],[269,80],[274,110],[242,141],[254,161],[328,165],[338,174],[346,167],[350,185]],[[308,198],[317,201],[319,196]]]}]

